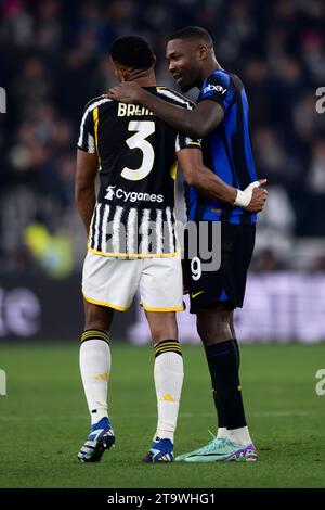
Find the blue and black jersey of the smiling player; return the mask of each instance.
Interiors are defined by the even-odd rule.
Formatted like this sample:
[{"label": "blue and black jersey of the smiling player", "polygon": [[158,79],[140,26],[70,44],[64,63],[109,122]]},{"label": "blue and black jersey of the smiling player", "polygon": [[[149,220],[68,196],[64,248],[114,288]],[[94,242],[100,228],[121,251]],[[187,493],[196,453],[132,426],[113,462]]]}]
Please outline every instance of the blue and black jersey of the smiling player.
[{"label": "blue and black jersey of the smiling player", "polygon": [[[240,79],[224,69],[212,73],[204,82],[197,103],[216,101],[224,111],[218,128],[202,141],[203,158],[224,182],[244,190],[257,179],[249,132],[249,109]],[[185,184],[188,219],[252,224],[256,214],[200,195]]]}]

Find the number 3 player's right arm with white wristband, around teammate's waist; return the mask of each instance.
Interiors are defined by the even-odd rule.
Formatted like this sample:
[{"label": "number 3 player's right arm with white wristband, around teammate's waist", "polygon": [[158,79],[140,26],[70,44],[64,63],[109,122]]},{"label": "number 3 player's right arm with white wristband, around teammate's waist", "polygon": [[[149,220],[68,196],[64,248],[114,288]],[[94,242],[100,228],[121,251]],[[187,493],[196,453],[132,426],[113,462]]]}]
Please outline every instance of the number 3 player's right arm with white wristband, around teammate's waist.
[{"label": "number 3 player's right arm with white wristband, around teammate's waist", "polygon": [[265,183],[266,179],[256,181],[255,187],[250,184],[248,189],[240,191],[223,182],[204,165],[199,149],[183,149],[177,152],[177,157],[186,182],[194,186],[202,194],[229,205],[246,208],[250,213],[263,209],[268,191],[258,187]]}]

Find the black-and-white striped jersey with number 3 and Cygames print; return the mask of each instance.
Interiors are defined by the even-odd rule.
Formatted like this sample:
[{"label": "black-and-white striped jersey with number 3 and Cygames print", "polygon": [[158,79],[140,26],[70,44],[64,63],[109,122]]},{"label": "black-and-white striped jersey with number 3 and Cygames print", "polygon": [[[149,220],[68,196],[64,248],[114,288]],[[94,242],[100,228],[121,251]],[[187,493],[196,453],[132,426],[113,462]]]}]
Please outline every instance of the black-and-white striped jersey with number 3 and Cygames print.
[{"label": "black-and-white striped jersey with number 3 and Cygames print", "polygon": [[[193,107],[166,87],[146,89],[167,102]],[[90,101],[78,140],[79,149],[99,158],[89,250],[114,257],[176,256],[177,152],[198,146],[198,140],[176,132],[143,106],[103,97]]]}]

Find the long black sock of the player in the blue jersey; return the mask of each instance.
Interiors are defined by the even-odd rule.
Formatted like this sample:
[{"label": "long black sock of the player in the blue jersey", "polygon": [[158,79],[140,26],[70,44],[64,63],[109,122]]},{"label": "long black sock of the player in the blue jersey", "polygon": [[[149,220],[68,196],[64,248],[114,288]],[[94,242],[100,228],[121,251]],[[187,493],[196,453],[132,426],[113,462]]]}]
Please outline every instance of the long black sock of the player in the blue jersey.
[{"label": "long black sock of the player in the blue jersey", "polygon": [[233,340],[205,346],[211,374],[214,403],[221,412],[221,425],[226,429],[246,426],[242,388],[238,374],[238,357]]}]

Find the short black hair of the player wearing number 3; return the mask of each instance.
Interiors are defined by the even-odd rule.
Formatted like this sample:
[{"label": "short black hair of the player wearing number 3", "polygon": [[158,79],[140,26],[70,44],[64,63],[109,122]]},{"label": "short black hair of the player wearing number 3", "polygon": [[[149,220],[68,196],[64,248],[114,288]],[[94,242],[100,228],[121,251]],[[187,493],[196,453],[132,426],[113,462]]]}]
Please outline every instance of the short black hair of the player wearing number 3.
[{"label": "short black hair of the player wearing number 3", "polygon": [[143,37],[119,37],[113,42],[109,54],[114,62],[132,69],[148,69],[154,64],[153,50]]}]

